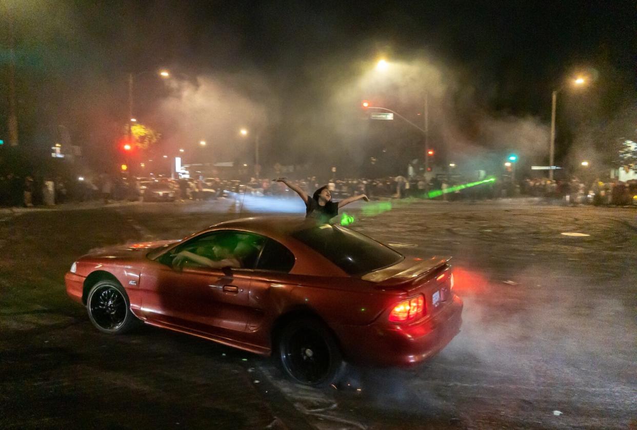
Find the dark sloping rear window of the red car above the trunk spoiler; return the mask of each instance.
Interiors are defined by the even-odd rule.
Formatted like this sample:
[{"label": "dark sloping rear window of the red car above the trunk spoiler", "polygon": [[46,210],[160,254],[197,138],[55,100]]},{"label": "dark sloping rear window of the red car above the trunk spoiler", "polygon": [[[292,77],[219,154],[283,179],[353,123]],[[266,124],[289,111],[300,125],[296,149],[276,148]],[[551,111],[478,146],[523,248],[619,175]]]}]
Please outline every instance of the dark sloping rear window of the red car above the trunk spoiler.
[{"label": "dark sloping rear window of the red car above the trunk spoiler", "polygon": [[336,225],[320,225],[293,233],[348,275],[364,275],[403,260],[402,254],[361,233]]}]

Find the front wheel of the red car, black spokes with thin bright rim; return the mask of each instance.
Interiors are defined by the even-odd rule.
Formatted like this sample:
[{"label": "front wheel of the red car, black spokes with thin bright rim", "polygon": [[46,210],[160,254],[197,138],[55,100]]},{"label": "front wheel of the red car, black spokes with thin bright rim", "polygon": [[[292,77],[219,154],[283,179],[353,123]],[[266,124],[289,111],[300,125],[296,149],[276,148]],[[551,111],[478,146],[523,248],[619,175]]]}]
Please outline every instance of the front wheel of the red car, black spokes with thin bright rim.
[{"label": "front wheel of the red car, black spokes with thin bright rim", "polygon": [[92,286],[86,301],[90,322],[102,333],[121,335],[139,320],[131,312],[131,302],[117,281],[105,279]]}]

